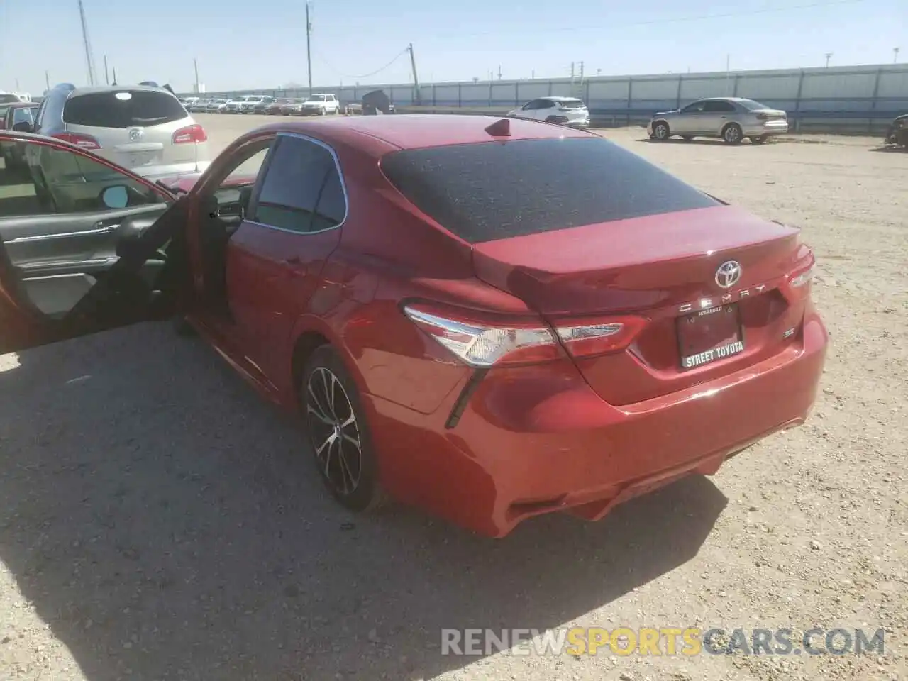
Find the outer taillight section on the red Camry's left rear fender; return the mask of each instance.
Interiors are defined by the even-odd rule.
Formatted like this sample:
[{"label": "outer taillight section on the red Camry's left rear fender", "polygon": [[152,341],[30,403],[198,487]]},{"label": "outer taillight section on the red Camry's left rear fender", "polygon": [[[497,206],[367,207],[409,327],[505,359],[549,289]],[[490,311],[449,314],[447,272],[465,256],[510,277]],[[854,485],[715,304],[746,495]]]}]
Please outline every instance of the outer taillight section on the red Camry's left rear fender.
[{"label": "outer taillight section on the red Camry's left rear fender", "polygon": [[411,303],[404,314],[419,329],[471,367],[533,364],[564,357],[551,329],[539,319],[501,320],[474,311]]}]

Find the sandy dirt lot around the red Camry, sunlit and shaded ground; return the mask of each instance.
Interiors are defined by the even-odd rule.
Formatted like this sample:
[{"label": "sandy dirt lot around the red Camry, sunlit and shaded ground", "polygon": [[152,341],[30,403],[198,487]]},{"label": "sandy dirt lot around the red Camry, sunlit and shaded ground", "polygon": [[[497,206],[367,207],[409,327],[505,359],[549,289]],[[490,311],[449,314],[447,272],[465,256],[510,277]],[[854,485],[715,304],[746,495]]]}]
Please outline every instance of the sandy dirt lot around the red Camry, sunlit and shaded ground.
[{"label": "sandy dirt lot around the red Camry, sunlit and shaded ground", "polygon": [[[200,119],[217,147],[261,121]],[[908,153],[607,136],[804,229],[832,334],[808,425],[600,523],[490,541],[342,512],[295,425],[166,325],[6,355],[0,678],[905,679]],[[565,625],[884,628],[887,650],[440,654],[441,627]]]}]

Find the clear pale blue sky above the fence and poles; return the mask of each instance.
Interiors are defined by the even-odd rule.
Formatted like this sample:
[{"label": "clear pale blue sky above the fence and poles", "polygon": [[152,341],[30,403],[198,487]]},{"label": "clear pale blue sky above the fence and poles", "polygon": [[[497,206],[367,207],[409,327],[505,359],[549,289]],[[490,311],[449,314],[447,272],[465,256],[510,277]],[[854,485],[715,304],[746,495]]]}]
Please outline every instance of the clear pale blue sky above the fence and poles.
[{"label": "clear pale blue sky above the fence and poles", "polygon": [[[84,0],[95,73],[188,92],[306,84],[304,0]],[[313,0],[312,82],[423,83],[908,62],[908,0]],[[396,54],[400,57],[390,66]],[[601,70],[601,72],[600,72]],[[0,0],[0,89],[86,84],[77,0]],[[379,73],[374,73],[378,71]]]}]

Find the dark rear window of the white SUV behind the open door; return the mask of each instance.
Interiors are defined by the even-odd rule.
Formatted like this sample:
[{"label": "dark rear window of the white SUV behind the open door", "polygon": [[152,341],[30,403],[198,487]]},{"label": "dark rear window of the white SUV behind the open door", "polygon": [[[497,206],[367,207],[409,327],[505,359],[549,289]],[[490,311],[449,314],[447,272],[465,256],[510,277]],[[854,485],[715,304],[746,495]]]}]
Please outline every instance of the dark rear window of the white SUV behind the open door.
[{"label": "dark rear window of the white SUV behind the open door", "polygon": [[64,123],[99,128],[160,125],[180,121],[187,115],[176,97],[148,90],[77,94],[66,100],[63,110]]}]

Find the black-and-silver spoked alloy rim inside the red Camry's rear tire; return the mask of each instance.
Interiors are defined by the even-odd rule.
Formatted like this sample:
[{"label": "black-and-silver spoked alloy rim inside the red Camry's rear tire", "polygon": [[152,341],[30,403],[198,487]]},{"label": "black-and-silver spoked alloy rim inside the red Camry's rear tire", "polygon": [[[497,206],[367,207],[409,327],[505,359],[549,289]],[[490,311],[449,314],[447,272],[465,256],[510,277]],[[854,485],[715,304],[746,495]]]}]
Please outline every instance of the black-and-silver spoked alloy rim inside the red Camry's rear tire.
[{"label": "black-and-silver spoked alloy rim inside the red Camry's rear tire", "polygon": [[306,424],[322,475],[337,494],[349,497],[362,477],[360,429],[347,391],[327,367],[310,374]]}]

